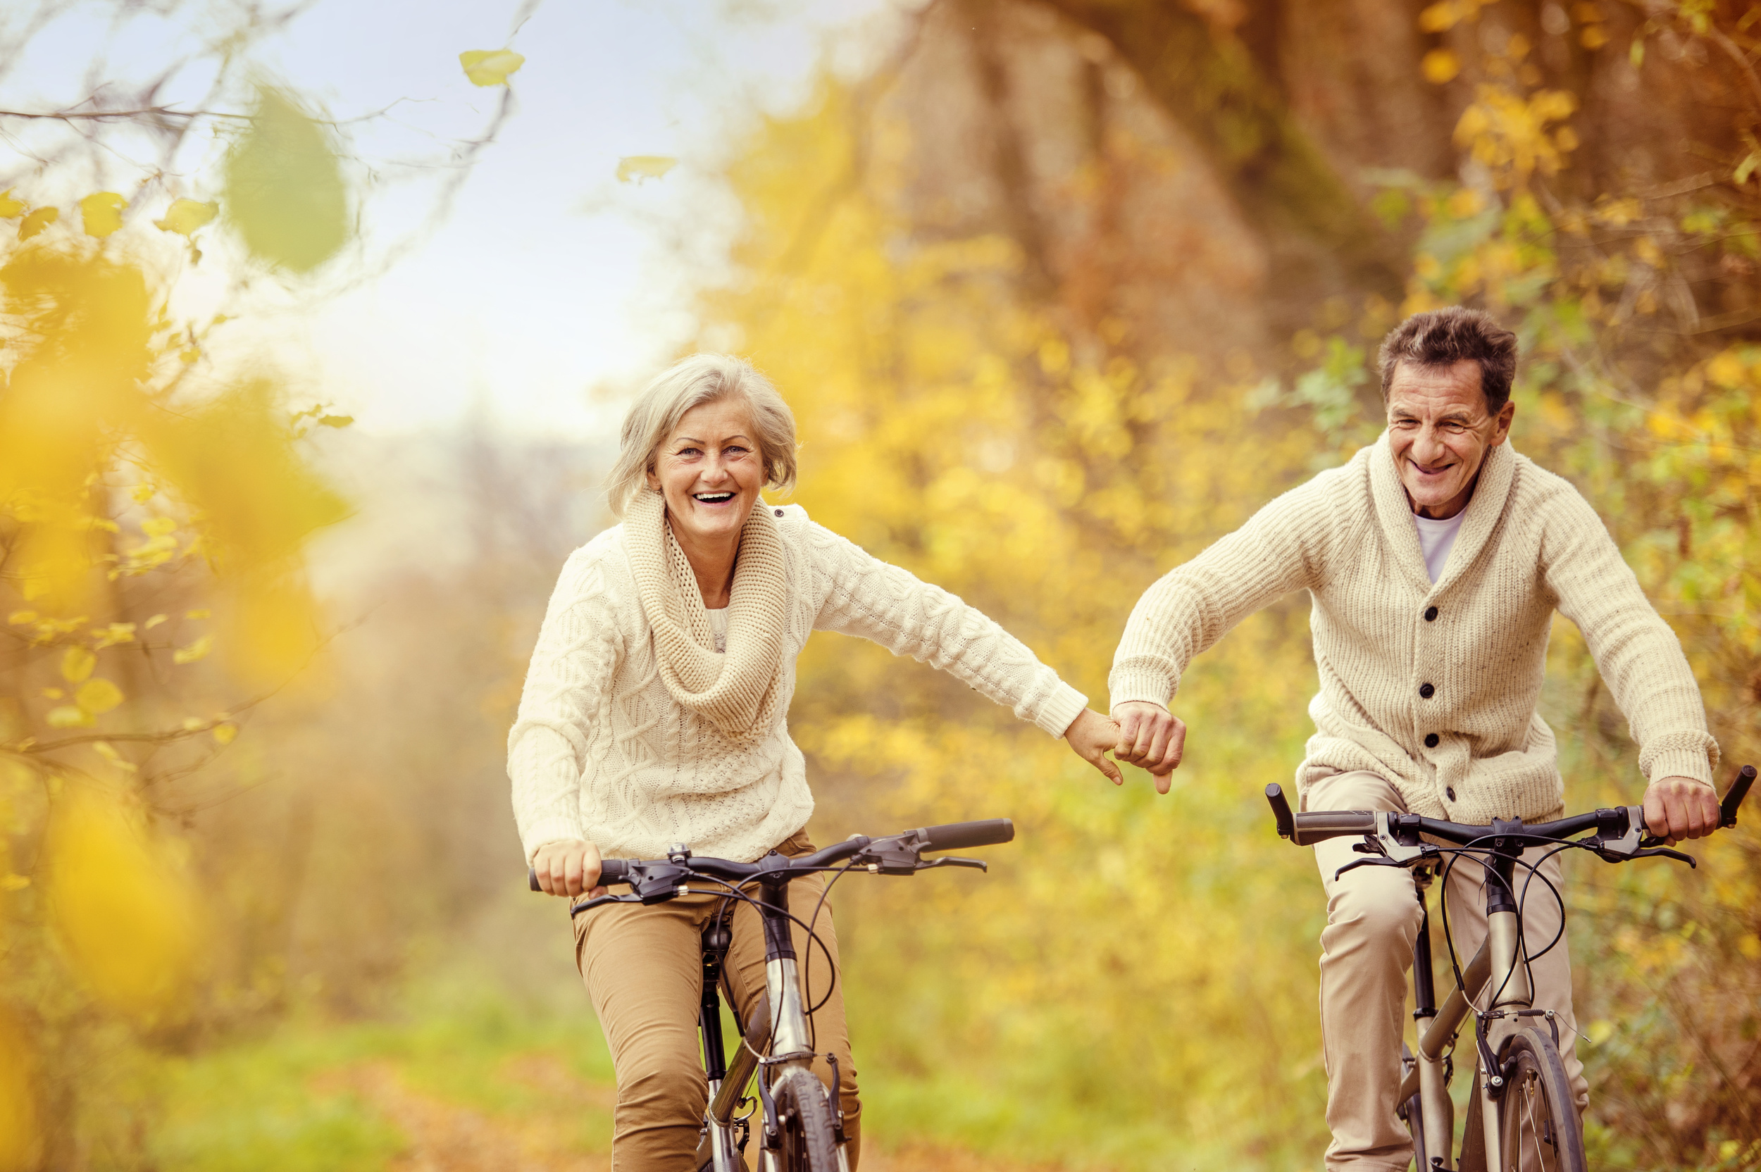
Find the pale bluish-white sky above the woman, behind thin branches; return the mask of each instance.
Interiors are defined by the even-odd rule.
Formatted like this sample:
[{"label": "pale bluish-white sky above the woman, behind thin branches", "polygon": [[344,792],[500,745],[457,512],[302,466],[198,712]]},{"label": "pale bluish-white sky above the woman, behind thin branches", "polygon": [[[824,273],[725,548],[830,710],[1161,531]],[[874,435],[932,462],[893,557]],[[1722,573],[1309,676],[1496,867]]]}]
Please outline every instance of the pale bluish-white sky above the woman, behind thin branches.
[{"label": "pale bluish-white sky above the woman, behind thin branches", "polygon": [[[203,5],[113,28],[114,7],[77,7],[41,32],[0,76],[0,107],[77,100],[100,53],[107,76],[150,76],[215,32],[197,16]],[[704,273],[697,262],[711,264],[736,225],[715,164],[755,111],[807,102],[828,55],[849,67],[884,46],[891,0],[548,0],[509,42],[518,7],[319,0],[252,58],[264,77],[331,118],[409,99],[389,118],[352,130],[352,151],[386,164],[442,158],[446,139],[488,123],[502,90],[472,86],[460,51],[511,44],[527,56],[512,77],[518,111],[433,236],[384,276],[312,311],[261,313],[229,327],[252,340],[273,334],[294,377],[354,414],[365,431],[446,426],[475,408],[516,433],[604,435],[616,407],[595,407],[590,389],[639,382],[689,336],[689,289]],[[0,18],[0,28],[16,12]],[[204,83],[187,70],[160,100],[194,106]],[[5,128],[0,150],[14,151],[65,134],[42,123]],[[187,176],[180,194],[213,197],[218,151],[211,137],[192,139],[178,158]],[[623,155],[674,155],[682,164],[664,179],[620,185]],[[144,146],[123,150],[107,157],[104,174],[63,176],[70,190],[39,192],[33,202],[65,202],[100,183],[129,192],[148,158]],[[23,165],[14,153],[5,181],[30,194]],[[421,223],[437,190],[435,172],[424,174],[375,187],[365,199],[372,248]],[[680,239],[697,262],[680,264]],[[206,266],[188,287],[199,290],[215,269]],[[220,296],[218,287],[211,294]]]}]

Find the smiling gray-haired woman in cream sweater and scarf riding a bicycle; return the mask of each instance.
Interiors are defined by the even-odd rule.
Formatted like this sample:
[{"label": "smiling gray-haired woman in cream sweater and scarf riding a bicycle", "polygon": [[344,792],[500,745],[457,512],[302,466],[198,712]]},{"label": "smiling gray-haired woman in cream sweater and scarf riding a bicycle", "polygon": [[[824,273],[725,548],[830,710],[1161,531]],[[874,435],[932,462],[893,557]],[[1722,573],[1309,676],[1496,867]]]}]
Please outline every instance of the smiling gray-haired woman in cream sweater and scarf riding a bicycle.
[{"label": "smiling gray-haired woman in cream sweater and scarf riding a bicycle", "polygon": [[[794,417],[747,363],[689,357],[637,396],[609,477],[623,523],[578,549],[551,597],[507,771],[544,890],[599,892],[601,857],[755,861],[808,853],[814,813],[789,739],[796,656],[814,630],[863,635],[951,672],[1118,781],[1116,727],[1021,642],[953,595],[773,507],[794,482]],[[821,889],[798,882],[798,901]],[[608,905],[574,919],[576,963],[618,1077],[613,1163],[692,1167],[708,1088],[697,1054],[699,933],[718,896]],[[821,1051],[838,1058],[851,1167],[859,1105],[829,906],[805,947]],[[798,936],[799,927],[796,929]],[[741,1021],[764,991],[764,938],[740,905],[727,956]],[[829,956],[826,956],[829,952]],[[829,1066],[821,1077],[831,1084]]]}]

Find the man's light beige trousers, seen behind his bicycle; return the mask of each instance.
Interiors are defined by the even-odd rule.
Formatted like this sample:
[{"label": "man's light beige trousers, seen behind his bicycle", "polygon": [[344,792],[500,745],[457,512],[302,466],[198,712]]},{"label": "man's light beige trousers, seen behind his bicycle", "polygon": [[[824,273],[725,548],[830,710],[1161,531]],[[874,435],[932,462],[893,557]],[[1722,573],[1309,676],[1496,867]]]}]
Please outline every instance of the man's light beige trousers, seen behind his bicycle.
[{"label": "man's light beige trousers, seen behind his bicycle", "polygon": [[[1337,773],[1308,787],[1303,809],[1398,809],[1405,804],[1388,781],[1374,773]],[[1319,843],[1315,864],[1326,887],[1326,929],[1321,933],[1321,1047],[1326,1058],[1326,1123],[1333,1142],[1326,1149],[1330,1172],[1351,1168],[1388,1168],[1404,1172],[1412,1163],[1412,1139],[1395,1116],[1400,1093],[1400,1040],[1407,1021],[1407,973],[1412,945],[1419,934],[1419,905],[1412,875],[1396,868],[1358,868],[1340,878],[1345,864],[1365,859],[1352,850],[1359,838],[1335,838]],[[1530,848],[1523,859],[1536,864],[1543,848]],[[1539,864],[1539,873],[1564,894],[1558,855]],[[1518,868],[1516,894],[1523,894]],[[1442,913],[1437,908],[1444,885],[1430,889],[1432,956],[1439,961],[1437,998],[1453,987],[1446,975]],[[1460,859],[1448,883],[1449,931],[1465,966],[1486,938],[1485,873],[1472,859]],[[1523,901],[1523,940],[1539,952],[1560,927],[1558,903],[1539,880]],[[1588,1084],[1578,1061],[1578,1026],[1571,1014],[1571,957],[1566,938],[1532,964],[1534,1007],[1551,1008],[1564,1017],[1558,1049],[1566,1059],[1581,1112],[1588,1102]],[[1472,1079],[1472,1042],[1469,1021],[1462,1029],[1456,1079]]]}]

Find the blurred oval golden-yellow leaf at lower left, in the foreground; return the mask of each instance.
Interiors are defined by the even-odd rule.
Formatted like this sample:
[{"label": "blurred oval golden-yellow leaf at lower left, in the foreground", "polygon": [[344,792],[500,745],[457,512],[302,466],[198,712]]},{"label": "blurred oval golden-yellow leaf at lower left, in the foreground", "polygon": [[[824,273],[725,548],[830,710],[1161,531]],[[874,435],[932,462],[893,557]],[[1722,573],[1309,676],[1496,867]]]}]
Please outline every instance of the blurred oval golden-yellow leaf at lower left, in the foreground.
[{"label": "blurred oval golden-yellow leaf at lower left, in the foreground", "polygon": [[69,787],[48,839],[49,915],[79,978],[130,1014],[173,1008],[197,959],[197,899],[144,820]]}]

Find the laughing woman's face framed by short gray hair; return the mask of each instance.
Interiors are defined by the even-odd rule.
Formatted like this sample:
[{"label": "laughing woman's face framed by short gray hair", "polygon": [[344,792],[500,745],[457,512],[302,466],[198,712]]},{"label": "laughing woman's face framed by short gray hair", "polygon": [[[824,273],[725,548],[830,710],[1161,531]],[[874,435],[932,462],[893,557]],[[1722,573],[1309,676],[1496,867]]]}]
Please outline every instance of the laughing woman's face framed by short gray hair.
[{"label": "laughing woman's face framed by short gray hair", "polygon": [[740,396],[685,412],[655,450],[648,487],[666,496],[682,544],[738,542],[764,487],[764,452]]}]

